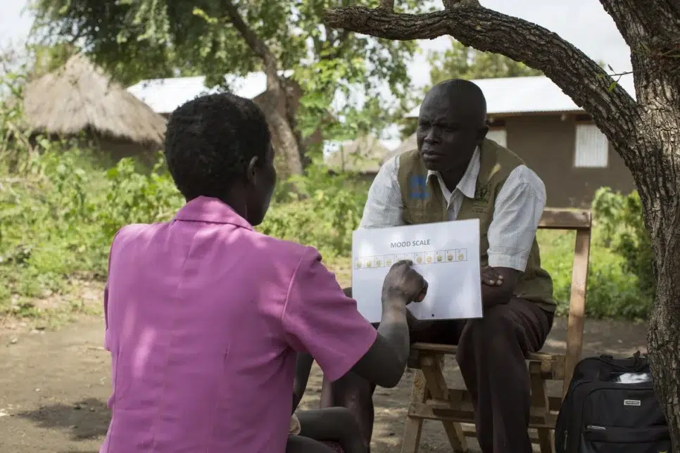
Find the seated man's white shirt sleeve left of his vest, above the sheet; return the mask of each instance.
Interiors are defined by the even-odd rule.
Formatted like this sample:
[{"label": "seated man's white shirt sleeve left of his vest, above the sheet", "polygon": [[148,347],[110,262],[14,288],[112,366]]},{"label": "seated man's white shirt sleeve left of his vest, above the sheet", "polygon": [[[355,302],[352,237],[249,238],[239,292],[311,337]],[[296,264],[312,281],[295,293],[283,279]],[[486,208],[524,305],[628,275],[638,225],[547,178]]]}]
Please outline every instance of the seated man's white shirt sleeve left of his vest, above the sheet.
[{"label": "seated man's white shirt sleeve left of his vest, above the sheet", "polygon": [[359,228],[386,228],[403,225],[401,189],[397,180],[399,160],[387,160],[368,190]]}]

